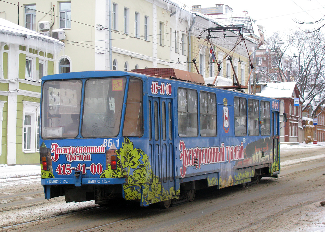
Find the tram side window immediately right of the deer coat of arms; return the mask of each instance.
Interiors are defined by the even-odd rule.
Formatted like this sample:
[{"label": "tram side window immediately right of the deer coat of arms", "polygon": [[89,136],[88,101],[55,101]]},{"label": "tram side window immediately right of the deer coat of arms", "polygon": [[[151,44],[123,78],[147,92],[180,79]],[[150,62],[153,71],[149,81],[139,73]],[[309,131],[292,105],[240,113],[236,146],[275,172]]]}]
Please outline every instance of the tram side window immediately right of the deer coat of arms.
[{"label": "tram side window immediately right of the deer coat of arms", "polygon": [[247,135],[246,98],[234,97],[235,135]]}]

